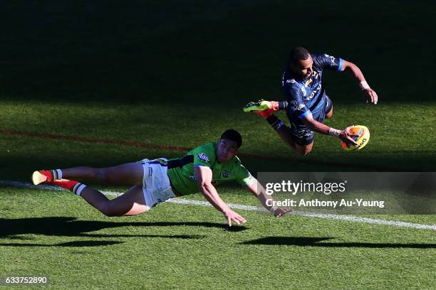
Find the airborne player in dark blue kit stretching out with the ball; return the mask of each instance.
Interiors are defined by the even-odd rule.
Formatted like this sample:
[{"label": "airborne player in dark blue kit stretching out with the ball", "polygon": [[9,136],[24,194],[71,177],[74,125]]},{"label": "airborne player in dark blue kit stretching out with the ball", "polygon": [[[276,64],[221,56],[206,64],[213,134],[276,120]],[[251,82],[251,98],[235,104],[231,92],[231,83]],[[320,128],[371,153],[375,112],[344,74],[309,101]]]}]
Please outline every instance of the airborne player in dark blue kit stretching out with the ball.
[{"label": "airborne player in dark blue kit stretching out with the ball", "polygon": [[[343,130],[333,129],[323,124],[324,119],[333,116],[333,104],[326,95],[323,86],[323,70],[348,70],[359,82],[365,95],[365,101],[377,104],[378,96],[365,81],[357,65],[327,54],[309,53],[306,48],[294,48],[289,54],[289,61],[281,78],[281,91],[284,102],[264,101],[250,102],[244,112],[260,114],[298,154],[306,155],[312,150],[313,131],[337,136],[342,141],[357,143],[352,139],[347,127]],[[273,112],[285,110],[291,122],[287,127]]]}]

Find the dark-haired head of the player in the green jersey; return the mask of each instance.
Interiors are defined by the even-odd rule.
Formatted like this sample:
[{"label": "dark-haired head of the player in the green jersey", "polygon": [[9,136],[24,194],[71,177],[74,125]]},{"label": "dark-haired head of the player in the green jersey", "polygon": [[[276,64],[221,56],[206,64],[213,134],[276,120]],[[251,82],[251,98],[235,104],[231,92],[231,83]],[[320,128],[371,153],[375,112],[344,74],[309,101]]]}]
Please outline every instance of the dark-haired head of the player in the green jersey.
[{"label": "dark-haired head of the player in the green jersey", "polygon": [[224,131],[217,142],[217,161],[226,162],[238,154],[242,145],[242,136],[234,129]]}]

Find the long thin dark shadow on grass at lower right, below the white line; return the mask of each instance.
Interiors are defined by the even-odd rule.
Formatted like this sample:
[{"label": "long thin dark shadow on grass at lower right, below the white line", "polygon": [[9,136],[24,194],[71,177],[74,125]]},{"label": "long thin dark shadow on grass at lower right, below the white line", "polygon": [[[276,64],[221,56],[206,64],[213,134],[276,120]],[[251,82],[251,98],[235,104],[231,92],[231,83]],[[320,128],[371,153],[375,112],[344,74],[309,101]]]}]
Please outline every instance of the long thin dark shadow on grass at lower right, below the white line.
[{"label": "long thin dark shadow on grass at lower right, below the white line", "polygon": [[334,237],[262,237],[257,240],[242,242],[242,245],[288,245],[301,247],[364,247],[364,248],[410,248],[434,249],[436,244],[394,244],[370,242],[321,242]]}]

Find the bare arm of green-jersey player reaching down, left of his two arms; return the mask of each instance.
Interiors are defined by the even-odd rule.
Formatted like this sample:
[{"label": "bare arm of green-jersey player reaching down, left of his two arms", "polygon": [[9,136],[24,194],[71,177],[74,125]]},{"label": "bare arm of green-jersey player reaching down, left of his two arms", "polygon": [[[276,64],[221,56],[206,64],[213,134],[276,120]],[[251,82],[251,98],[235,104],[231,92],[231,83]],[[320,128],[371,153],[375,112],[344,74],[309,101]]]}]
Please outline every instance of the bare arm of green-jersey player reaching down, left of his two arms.
[{"label": "bare arm of green-jersey player reaching down, left of his two arms", "polygon": [[214,208],[217,208],[229,222],[229,227],[232,222],[237,225],[245,223],[246,220],[241,215],[234,212],[224,201],[219,197],[217,190],[212,185],[212,170],[206,166],[197,166],[194,168],[195,178],[197,178],[197,185],[204,198],[211,203]]}]

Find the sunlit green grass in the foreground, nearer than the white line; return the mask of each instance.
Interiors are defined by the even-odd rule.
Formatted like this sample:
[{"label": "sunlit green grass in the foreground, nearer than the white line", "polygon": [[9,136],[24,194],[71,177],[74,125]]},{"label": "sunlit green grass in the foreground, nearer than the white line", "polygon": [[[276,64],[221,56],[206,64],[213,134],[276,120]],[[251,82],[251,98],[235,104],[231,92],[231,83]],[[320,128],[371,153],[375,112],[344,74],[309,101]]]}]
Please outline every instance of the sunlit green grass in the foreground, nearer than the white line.
[{"label": "sunlit green grass in the foreground, nearer than the white line", "polygon": [[48,276],[54,289],[431,289],[435,279],[430,230],[244,210],[249,222],[228,230],[196,205],[106,218],[66,192],[1,188],[0,200],[0,272]]}]

